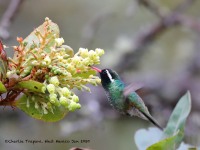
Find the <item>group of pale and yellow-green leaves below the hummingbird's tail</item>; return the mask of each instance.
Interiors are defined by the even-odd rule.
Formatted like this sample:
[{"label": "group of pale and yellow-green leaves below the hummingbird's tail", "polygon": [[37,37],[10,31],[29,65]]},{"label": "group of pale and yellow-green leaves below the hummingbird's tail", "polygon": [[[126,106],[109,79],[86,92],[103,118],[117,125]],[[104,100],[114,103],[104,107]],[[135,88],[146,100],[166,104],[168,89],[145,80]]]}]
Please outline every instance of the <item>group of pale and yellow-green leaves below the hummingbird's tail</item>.
[{"label": "group of pale and yellow-green leaves below the hummingbird's tail", "polygon": [[[155,132],[152,129],[149,131],[138,130],[136,132],[135,141],[139,150],[146,148],[147,150],[168,150],[178,148],[184,137],[185,122],[190,111],[191,97],[190,92],[187,92],[174,108],[164,132]],[[140,136],[144,134],[146,136],[140,138]]]}]

